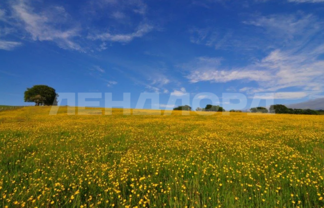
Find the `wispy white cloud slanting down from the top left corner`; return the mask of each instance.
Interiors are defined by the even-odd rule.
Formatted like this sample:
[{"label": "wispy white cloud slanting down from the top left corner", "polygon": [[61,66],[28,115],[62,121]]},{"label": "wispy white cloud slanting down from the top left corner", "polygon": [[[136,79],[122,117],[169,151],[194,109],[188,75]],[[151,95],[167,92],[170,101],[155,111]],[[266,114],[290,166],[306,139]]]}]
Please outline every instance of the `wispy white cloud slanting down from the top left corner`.
[{"label": "wispy white cloud slanting down from the top left corner", "polygon": [[[70,27],[68,14],[63,7],[51,7],[36,12],[29,1],[15,1],[12,4],[13,16],[20,21],[21,27],[33,40],[54,41],[64,49],[82,51],[82,47],[73,41],[79,36],[78,27]],[[66,29],[61,29],[65,28]]]}]

